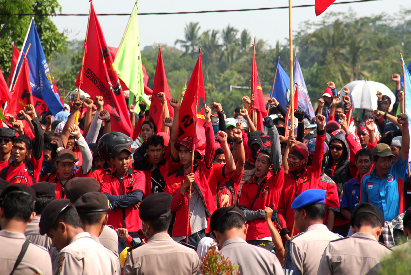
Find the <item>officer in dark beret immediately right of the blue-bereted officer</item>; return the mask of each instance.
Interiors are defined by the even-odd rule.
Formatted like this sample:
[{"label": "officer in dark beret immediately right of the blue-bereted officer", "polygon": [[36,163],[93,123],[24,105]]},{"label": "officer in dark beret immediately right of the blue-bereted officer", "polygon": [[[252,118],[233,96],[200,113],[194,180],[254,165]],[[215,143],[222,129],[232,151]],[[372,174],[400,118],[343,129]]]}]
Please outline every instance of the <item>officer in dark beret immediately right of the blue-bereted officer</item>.
[{"label": "officer in dark beret immediately right of the blue-bereted officer", "polygon": [[391,249],[378,242],[384,229],[384,215],[366,202],[357,205],[350,218],[351,237],[331,241],[325,248],[317,275],[377,274],[379,262]]}]

